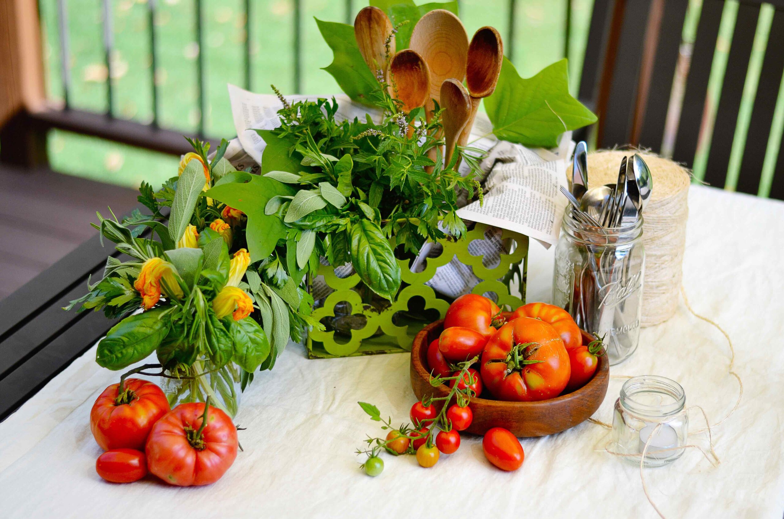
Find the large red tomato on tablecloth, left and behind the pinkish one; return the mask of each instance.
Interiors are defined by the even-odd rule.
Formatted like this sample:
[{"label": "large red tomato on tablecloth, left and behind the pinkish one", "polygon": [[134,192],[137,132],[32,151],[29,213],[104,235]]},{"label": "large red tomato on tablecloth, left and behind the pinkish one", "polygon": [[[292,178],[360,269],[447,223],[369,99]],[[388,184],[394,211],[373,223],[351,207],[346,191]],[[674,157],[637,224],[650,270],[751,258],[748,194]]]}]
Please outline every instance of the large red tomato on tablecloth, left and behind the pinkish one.
[{"label": "large red tomato on tablecloth, left and behind the pinkish one", "polygon": [[122,394],[118,387],[107,387],[93,404],[90,430],[104,451],[143,449],[153,424],[169,412],[169,401],[160,387],[147,380],[126,379]]}]

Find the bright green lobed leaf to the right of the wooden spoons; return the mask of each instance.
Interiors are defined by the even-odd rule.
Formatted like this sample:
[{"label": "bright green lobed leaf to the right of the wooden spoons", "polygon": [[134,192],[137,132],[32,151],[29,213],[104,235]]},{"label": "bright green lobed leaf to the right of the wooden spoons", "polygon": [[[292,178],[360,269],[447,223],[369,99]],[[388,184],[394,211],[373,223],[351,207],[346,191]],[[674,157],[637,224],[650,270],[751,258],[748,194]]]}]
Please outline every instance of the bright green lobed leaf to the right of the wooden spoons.
[{"label": "bright green lobed leaf to the right of the wooden spoons", "polygon": [[503,59],[495,93],[485,110],[499,139],[532,147],[556,147],[561,133],[596,122],[596,115],[569,93],[567,60],[524,79]]}]

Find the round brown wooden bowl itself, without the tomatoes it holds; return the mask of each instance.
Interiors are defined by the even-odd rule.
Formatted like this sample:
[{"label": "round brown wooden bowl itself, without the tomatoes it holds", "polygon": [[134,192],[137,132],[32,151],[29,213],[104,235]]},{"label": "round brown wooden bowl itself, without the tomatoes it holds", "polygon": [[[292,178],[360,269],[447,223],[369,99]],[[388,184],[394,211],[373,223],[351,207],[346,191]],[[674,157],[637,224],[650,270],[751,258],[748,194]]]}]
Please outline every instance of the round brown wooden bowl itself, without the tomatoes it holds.
[{"label": "round brown wooden bowl itself, without the tomatoes it holds", "polygon": [[[416,335],[411,349],[411,387],[416,397],[421,399],[426,394],[434,397],[445,397],[449,394],[446,385],[433,387],[430,385],[430,369],[427,367],[427,347],[441,335],[444,320],[427,325]],[[583,332],[583,343],[593,340]],[[599,357],[599,365],[593,378],[585,386],[572,393],[560,397],[536,402],[507,402],[488,400],[487,398],[471,398],[469,407],[474,412],[474,421],[466,432],[485,434],[492,427],[503,427],[517,437],[546,436],[560,433],[578,423],[584,422],[599,408],[607,394],[610,379],[610,363],[607,355]],[[488,394],[485,391],[485,394]],[[434,405],[441,409],[443,401]]]}]

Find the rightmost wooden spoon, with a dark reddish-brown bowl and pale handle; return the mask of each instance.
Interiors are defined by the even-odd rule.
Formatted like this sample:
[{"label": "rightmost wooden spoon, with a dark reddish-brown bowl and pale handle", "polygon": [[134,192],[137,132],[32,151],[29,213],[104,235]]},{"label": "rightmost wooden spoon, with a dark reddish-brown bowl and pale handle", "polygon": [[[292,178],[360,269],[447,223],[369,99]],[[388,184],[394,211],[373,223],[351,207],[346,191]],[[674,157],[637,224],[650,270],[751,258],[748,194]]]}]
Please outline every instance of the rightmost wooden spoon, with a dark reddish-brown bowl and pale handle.
[{"label": "rightmost wooden spoon, with a dark reddish-brown bowl and pale handle", "polygon": [[491,95],[498,84],[503,64],[503,41],[501,34],[493,27],[481,27],[471,44],[468,46],[468,62],[466,64],[466,83],[471,95],[471,115],[460,136],[459,145],[465,146],[474,127],[479,103],[483,97]]}]

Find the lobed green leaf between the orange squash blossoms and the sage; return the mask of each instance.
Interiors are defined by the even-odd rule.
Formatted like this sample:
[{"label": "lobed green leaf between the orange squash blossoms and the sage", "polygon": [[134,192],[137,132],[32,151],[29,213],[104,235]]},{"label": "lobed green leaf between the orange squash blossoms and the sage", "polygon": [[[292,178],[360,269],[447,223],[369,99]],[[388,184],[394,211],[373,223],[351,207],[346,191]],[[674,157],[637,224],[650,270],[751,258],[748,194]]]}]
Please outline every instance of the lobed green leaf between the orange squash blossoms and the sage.
[{"label": "lobed green leaf between the orange squash blossoms and the sage", "polygon": [[288,184],[265,176],[253,175],[249,183],[224,183],[207,191],[215,198],[248,216],[245,231],[251,261],[270,256],[279,239],[285,239],[286,227],[278,216],[265,215],[264,206],[274,196],[291,196],[296,190]]}]

